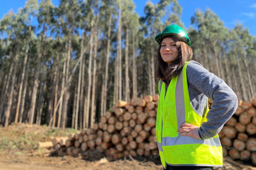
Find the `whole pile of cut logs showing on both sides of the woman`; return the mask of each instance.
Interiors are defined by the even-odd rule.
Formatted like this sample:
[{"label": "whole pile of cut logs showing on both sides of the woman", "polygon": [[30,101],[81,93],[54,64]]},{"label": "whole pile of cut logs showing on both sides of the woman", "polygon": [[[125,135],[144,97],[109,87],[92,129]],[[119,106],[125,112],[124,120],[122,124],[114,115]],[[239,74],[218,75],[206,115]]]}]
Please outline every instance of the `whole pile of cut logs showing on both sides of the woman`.
[{"label": "whole pile of cut logs showing on both sides of the woman", "polygon": [[[158,154],[156,114],[159,95],[118,101],[93,128],[80,134],[53,139],[59,155],[77,155],[89,148],[113,158]],[[211,109],[212,101],[209,101]],[[239,101],[235,114],[219,132],[223,156],[233,160],[252,161],[256,165],[256,96]]]}]

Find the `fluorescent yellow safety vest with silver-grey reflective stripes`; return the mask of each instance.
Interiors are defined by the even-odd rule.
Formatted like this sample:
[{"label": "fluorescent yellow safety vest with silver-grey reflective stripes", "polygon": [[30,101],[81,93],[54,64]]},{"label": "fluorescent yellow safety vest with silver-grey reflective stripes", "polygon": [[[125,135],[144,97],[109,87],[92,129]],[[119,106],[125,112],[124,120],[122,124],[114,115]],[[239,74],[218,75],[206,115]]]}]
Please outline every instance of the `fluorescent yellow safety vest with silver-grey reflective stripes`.
[{"label": "fluorescent yellow safety vest with silver-grey reflective stripes", "polygon": [[[197,113],[189,99],[186,67],[172,78],[170,85],[159,81],[159,103],[156,133],[162,165],[173,166],[222,166],[222,147],[218,135],[202,140],[178,134],[183,123],[201,126],[209,111],[207,104],[202,114]],[[166,90],[167,89],[167,90]],[[206,102],[207,103],[207,102]],[[200,115],[203,115],[200,116]]]}]

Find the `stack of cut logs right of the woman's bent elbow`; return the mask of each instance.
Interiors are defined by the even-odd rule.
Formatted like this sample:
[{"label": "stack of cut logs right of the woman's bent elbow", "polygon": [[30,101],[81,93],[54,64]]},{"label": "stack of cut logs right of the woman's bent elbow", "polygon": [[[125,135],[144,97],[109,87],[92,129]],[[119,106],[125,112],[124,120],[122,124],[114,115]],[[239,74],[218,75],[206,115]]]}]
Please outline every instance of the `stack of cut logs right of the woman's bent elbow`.
[{"label": "stack of cut logs right of the woman's bent elbow", "polygon": [[223,156],[256,165],[256,96],[239,101],[235,114],[219,132]]}]

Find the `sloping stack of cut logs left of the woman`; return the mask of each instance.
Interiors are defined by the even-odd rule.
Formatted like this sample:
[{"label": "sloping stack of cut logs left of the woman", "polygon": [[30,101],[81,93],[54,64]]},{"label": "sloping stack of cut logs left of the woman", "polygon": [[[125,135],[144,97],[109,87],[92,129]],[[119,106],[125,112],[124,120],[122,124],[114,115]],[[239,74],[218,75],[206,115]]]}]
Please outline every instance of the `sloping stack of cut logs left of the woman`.
[{"label": "sloping stack of cut logs left of the woman", "polygon": [[130,103],[117,101],[93,128],[79,134],[54,138],[59,155],[77,155],[90,148],[118,159],[124,156],[158,154],[156,115],[159,95],[132,98]]}]

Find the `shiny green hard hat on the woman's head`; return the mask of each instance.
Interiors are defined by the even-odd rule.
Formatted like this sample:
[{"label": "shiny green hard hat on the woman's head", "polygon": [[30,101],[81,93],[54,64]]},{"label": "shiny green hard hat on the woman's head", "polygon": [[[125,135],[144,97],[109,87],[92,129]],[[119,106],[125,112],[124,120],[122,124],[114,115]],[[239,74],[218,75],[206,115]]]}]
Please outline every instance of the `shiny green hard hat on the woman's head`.
[{"label": "shiny green hard hat on the woman's head", "polygon": [[186,31],[178,25],[169,25],[169,26],[167,26],[161,34],[158,34],[155,37],[155,40],[157,41],[157,43],[160,44],[161,38],[165,35],[179,36],[179,37],[183,38],[183,41],[186,42],[187,45],[190,46],[190,39],[189,39]]}]

